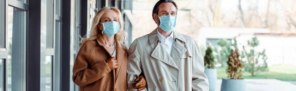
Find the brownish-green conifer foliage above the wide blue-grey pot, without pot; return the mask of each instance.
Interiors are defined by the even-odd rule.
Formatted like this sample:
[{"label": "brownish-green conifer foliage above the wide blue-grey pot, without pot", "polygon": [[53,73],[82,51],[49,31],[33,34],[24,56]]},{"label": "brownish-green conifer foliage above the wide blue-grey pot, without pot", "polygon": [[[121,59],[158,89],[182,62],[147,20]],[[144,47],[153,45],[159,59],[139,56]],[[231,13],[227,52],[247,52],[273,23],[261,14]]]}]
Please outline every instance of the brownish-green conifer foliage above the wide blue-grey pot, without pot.
[{"label": "brownish-green conifer foliage above the wide blue-grey pot, without pot", "polygon": [[241,79],[242,76],[241,69],[243,68],[242,62],[239,60],[239,51],[237,48],[236,38],[234,38],[234,43],[231,44],[234,49],[231,49],[227,61],[227,75],[230,79]]}]

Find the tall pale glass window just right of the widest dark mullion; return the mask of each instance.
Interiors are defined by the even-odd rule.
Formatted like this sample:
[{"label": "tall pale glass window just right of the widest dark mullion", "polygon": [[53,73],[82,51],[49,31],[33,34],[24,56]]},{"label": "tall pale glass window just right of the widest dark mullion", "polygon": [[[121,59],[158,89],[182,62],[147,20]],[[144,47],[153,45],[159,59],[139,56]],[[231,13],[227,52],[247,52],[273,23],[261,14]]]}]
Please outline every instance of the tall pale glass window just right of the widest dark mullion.
[{"label": "tall pale glass window just right of the widest dark mullion", "polygon": [[[41,53],[40,53],[40,91],[52,89],[53,55],[46,55],[46,48],[53,48],[53,2],[41,0]],[[44,39],[45,38],[45,39]],[[46,45],[46,46],[45,46]]]}]

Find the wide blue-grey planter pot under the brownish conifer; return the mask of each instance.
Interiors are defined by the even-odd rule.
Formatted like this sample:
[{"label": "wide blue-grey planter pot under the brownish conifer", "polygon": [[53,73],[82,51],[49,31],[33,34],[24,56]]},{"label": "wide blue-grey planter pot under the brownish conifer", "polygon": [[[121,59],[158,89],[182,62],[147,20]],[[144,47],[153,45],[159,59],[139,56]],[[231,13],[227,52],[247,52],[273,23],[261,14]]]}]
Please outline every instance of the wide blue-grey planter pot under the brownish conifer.
[{"label": "wide blue-grey planter pot under the brownish conifer", "polygon": [[222,79],[221,91],[247,91],[244,79]]}]

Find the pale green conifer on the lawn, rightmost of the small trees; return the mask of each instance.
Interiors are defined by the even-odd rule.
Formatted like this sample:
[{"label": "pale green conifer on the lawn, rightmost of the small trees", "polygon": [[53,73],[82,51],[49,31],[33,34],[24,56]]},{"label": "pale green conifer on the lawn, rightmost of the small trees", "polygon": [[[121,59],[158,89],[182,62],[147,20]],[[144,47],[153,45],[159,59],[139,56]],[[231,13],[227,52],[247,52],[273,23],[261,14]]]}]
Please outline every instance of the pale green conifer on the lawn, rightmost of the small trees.
[{"label": "pale green conifer on the lawn, rightmost of the small trees", "polygon": [[[253,37],[251,41],[248,41],[249,51],[243,46],[242,56],[243,65],[245,71],[250,72],[252,76],[256,76],[259,72],[268,71],[267,57],[265,55],[265,49],[262,52],[257,52],[255,49],[259,45],[257,37]],[[263,62],[259,64],[259,62]]]}]

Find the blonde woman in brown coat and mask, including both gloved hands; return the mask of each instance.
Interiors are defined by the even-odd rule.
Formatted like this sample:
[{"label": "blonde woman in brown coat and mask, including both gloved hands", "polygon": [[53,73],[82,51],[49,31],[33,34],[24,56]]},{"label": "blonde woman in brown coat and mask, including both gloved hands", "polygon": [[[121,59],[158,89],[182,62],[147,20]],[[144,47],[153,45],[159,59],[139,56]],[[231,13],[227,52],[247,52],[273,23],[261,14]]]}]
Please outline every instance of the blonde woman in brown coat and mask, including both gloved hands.
[{"label": "blonde woman in brown coat and mask, including both gloved hands", "polygon": [[[127,91],[128,47],[123,45],[123,19],[116,7],[99,10],[90,34],[82,38],[73,67],[73,81],[79,91]],[[135,89],[143,90],[143,76]]]}]

